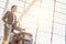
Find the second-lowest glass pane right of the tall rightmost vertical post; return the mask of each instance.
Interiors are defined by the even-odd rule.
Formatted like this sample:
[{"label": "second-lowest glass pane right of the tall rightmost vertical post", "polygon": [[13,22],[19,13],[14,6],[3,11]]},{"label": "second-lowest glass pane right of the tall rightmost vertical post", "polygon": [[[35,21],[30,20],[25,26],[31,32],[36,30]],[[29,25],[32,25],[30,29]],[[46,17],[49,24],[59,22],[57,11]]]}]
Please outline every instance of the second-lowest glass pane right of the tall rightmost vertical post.
[{"label": "second-lowest glass pane right of the tall rightmost vertical post", "polygon": [[54,33],[65,35],[65,25],[54,23]]}]

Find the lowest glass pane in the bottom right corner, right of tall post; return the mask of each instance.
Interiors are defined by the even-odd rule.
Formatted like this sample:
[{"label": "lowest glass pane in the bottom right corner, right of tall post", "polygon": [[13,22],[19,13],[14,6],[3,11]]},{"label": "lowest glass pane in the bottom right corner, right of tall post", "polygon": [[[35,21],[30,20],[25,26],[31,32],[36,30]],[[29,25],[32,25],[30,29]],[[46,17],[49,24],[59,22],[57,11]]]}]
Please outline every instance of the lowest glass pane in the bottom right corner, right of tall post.
[{"label": "lowest glass pane in the bottom right corner, right of tall post", "polygon": [[54,34],[53,44],[65,44],[65,37],[62,35]]}]

